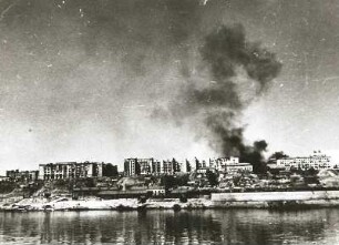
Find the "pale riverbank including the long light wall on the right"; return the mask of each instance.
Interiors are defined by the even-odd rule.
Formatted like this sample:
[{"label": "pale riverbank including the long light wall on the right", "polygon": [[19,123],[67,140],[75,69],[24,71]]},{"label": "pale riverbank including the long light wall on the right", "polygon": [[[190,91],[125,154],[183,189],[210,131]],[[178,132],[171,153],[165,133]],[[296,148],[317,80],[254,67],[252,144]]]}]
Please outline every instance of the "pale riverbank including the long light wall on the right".
[{"label": "pale riverbank including the long light wall on the right", "polygon": [[0,211],[143,211],[143,210],[206,210],[206,208],[311,208],[339,206],[339,191],[244,192],[212,193],[201,198],[137,198],[101,200],[88,197],[23,198],[1,204]]}]

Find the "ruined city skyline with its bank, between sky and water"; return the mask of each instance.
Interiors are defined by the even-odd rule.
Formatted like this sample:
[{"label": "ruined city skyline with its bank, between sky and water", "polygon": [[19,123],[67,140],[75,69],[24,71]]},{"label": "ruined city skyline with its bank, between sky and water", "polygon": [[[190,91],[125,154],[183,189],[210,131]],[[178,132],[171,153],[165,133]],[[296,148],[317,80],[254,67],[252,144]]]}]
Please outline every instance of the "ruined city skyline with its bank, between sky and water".
[{"label": "ruined city skyline with its bank, between sky and water", "polygon": [[339,205],[339,166],[315,151],[267,161],[125,159],[40,164],[1,176],[2,211],[305,207]]}]

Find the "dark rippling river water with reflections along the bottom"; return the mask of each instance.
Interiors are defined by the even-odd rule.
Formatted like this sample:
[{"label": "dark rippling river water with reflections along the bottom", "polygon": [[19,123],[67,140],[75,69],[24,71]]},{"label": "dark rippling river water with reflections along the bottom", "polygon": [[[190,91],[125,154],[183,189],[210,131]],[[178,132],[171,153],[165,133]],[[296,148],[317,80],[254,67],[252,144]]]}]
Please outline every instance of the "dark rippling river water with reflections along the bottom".
[{"label": "dark rippling river water with reflections along the bottom", "polygon": [[0,244],[339,244],[339,211],[0,213]]}]

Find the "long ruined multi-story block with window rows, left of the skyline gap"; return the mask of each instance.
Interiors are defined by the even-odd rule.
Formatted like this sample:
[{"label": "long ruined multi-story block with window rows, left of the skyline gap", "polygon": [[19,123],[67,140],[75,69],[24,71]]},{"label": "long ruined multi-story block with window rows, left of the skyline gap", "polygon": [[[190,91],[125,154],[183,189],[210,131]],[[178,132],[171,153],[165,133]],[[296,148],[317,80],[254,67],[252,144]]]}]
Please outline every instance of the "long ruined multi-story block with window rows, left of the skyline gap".
[{"label": "long ruined multi-story block with window rows, left of the skyline gap", "polygon": [[105,163],[97,162],[59,162],[39,164],[40,180],[62,180],[82,177],[102,177]]}]

